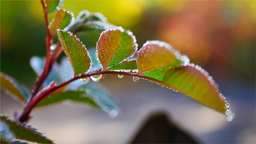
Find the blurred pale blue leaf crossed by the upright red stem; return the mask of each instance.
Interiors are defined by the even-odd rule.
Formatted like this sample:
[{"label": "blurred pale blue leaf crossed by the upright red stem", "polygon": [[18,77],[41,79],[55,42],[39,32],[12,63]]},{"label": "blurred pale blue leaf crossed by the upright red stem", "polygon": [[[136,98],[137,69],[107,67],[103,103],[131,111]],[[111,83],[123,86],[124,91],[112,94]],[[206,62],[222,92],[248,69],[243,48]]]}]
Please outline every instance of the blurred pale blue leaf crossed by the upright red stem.
[{"label": "blurred pale blue leaf crossed by the upright red stem", "polygon": [[[45,63],[45,58],[33,56],[30,59],[30,65],[33,68],[33,70],[36,72],[37,76],[40,76],[41,73],[43,72],[44,63]],[[43,84],[44,86],[49,85],[52,81],[59,78],[59,76],[58,76],[59,67],[60,67],[59,64],[55,62],[54,66],[52,68],[52,71],[47,76],[46,80],[44,81],[44,84]],[[57,82],[57,84],[58,84],[58,82]]]}]

